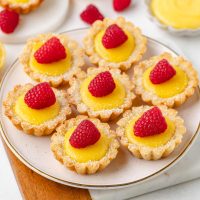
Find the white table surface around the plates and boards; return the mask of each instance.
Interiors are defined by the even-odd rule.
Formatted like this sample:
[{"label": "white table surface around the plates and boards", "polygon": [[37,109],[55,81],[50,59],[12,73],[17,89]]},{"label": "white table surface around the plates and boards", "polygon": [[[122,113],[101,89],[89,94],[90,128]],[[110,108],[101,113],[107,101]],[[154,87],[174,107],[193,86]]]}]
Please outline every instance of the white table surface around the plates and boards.
[{"label": "white table surface around the plates and boards", "polygon": [[[48,1],[48,0],[47,0]],[[119,15],[112,10],[111,0],[71,0],[70,12],[67,15],[65,24],[60,27],[57,32],[86,27],[86,25],[81,22],[79,19],[79,13],[81,10],[89,3],[95,3],[100,10],[103,11],[104,15],[107,17],[116,17]],[[106,6],[105,6],[106,4]],[[146,16],[144,3],[142,0],[134,0],[132,8],[127,11],[120,13],[125,16],[127,19],[134,21],[134,23],[142,29],[143,33],[148,36],[151,36],[155,39],[163,41],[170,41],[171,44],[176,44],[184,54],[193,62],[193,64],[200,72],[200,37],[195,38],[185,38],[185,37],[176,37],[166,33],[163,30],[160,30],[156,27]],[[20,50],[22,46],[6,46],[7,48],[7,64],[6,67],[12,63],[17,57],[17,50]],[[15,51],[13,49],[15,48]],[[17,50],[16,50],[17,49]],[[191,149],[192,150],[192,149]],[[190,151],[191,151],[190,150]],[[18,190],[16,181],[13,176],[10,164],[8,162],[7,156],[0,141],[0,199],[1,200],[20,200],[22,199],[20,192]],[[146,195],[133,198],[134,200],[196,200],[200,197],[200,179],[195,181],[187,182],[184,184],[179,184],[167,189],[158,190]]]}]

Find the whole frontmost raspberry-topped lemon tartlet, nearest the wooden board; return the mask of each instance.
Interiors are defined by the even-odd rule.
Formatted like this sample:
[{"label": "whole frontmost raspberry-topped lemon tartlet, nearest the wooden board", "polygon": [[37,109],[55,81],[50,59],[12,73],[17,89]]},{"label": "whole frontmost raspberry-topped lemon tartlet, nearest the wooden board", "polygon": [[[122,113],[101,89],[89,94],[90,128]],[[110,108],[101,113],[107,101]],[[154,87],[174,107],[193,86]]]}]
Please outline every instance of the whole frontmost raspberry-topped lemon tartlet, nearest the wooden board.
[{"label": "whole frontmost raspberry-topped lemon tartlet, nearest the wooden board", "polygon": [[[87,137],[82,138],[83,134]],[[51,138],[55,158],[79,174],[103,170],[115,159],[118,148],[119,142],[108,124],[81,115],[65,121]]]}]

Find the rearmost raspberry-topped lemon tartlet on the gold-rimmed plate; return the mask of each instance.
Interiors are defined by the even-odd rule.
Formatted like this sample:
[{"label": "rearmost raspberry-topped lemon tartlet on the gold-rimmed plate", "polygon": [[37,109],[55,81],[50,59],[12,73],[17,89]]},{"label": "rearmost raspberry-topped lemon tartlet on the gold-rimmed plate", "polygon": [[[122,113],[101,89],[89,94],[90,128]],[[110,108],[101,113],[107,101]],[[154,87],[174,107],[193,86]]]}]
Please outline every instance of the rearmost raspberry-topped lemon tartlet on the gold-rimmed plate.
[{"label": "rearmost raspberry-topped lemon tartlet on the gold-rimmed plate", "polygon": [[147,40],[139,28],[118,17],[93,23],[83,43],[93,64],[127,70],[142,58]]}]

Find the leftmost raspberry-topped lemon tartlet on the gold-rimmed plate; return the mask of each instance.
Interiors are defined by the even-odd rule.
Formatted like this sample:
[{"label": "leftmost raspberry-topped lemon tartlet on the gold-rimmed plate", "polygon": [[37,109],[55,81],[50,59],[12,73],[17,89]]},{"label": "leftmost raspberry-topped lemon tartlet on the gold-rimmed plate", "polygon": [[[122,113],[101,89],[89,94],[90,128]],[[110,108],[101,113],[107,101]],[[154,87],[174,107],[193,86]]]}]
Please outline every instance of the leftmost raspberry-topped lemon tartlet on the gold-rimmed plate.
[{"label": "leftmost raspberry-topped lemon tartlet on the gold-rimmed plate", "polygon": [[[39,89],[38,85],[34,86],[30,83],[17,85],[8,93],[4,101],[5,115],[11,122],[25,133],[36,136],[51,134],[56,127],[71,114],[66,92],[52,89],[52,91],[50,91],[52,94],[50,95],[48,91],[51,89],[49,88],[50,86],[47,85],[48,83],[41,84],[42,86],[40,85],[39,87],[44,88],[44,91]],[[34,89],[34,93],[31,94],[30,91],[33,88],[36,89]],[[52,95],[53,98],[55,98],[53,102],[51,100]],[[45,102],[45,98],[47,102]],[[51,105],[48,103],[50,101],[52,102]],[[30,105],[28,105],[27,102],[29,102]],[[30,107],[31,104],[35,104],[38,108]],[[47,106],[43,108],[45,104],[47,104]]]}]

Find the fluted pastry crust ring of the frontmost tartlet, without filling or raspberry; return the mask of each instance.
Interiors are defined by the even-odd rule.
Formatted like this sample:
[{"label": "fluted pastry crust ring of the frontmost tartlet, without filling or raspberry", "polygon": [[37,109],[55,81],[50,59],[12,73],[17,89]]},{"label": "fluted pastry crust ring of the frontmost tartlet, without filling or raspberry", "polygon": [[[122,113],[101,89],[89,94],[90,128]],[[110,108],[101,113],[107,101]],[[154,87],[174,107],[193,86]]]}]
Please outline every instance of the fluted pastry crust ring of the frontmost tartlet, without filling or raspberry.
[{"label": "fluted pastry crust ring of the frontmost tartlet, without filling or raspberry", "polygon": [[[92,121],[98,130],[103,131],[105,136],[110,140],[107,152],[100,160],[78,162],[65,153],[66,132],[69,129],[78,126],[79,123],[85,119]],[[76,171],[79,174],[94,174],[97,171],[103,170],[107,165],[110,164],[113,159],[115,159],[118,153],[118,148],[119,142],[116,139],[114,131],[110,130],[110,126],[108,124],[101,123],[98,119],[91,119],[82,115],[65,121],[61,126],[57,128],[56,133],[54,133],[51,137],[51,150],[53,151],[55,158],[64,164],[67,168]],[[81,152],[81,149],[79,150]]]}]

